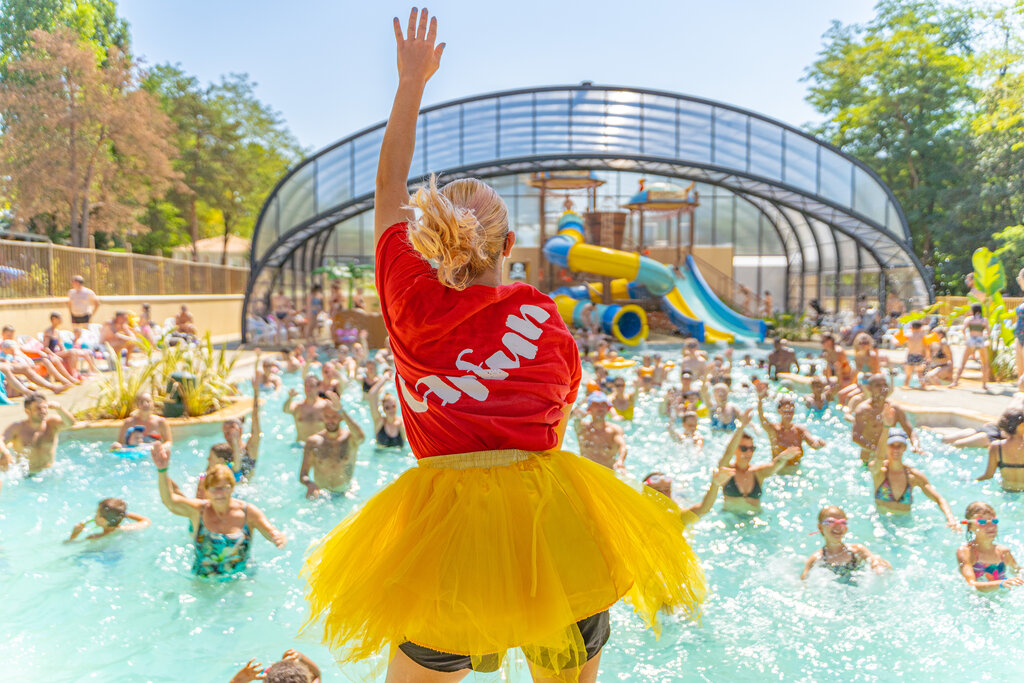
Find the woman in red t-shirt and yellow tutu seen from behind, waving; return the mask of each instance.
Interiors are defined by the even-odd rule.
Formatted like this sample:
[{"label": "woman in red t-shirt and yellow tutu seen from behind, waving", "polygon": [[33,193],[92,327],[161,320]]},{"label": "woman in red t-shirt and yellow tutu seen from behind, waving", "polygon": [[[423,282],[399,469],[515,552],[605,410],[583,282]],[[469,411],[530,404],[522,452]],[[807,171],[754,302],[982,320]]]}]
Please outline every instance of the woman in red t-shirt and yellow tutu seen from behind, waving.
[{"label": "woman in red t-shirt and yellow tutu seen from behind, waving", "polygon": [[501,285],[515,236],[500,196],[431,179],[410,200],[417,114],[443,45],[426,10],[394,31],[376,280],[418,467],[311,552],[310,622],[340,661],[391,646],[389,681],[459,680],[521,647],[535,680],[592,682],[608,607],[628,594],[651,626],[663,609],[693,612],[699,563],[664,497],[558,450],[579,352],[550,297]]}]

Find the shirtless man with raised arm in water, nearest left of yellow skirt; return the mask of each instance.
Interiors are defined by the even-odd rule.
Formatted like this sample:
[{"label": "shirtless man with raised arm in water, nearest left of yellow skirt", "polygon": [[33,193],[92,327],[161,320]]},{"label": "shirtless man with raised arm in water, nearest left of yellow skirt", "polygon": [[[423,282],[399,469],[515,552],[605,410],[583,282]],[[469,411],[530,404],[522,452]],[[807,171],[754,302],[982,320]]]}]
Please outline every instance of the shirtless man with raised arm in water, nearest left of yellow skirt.
[{"label": "shirtless man with raised arm in water, nearest left of yellow skirt", "polygon": [[[328,492],[340,494],[348,488],[355,470],[355,454],[366,438],[359,425],[341,407],[341,397],[334,391],[328,397],[329,402],[321,411],[324,429],[306,439],[299,469],[299,482],[305,485],[310,501]],[[341,429],[342,420],[348,429]]]}]

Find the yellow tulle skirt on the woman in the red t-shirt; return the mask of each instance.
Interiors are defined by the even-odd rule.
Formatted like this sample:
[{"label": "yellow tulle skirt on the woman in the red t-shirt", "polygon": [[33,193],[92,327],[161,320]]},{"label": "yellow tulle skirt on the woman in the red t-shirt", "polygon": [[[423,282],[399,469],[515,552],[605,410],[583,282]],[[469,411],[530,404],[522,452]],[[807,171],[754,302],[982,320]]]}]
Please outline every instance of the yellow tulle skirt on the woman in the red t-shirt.
[{"label": "yellow tulle skirt on the woman in the red t-shirt", "polygon": [[520,647],[572,678],[575,623],[627,598],[696,615],[706,587],[678,508],[563,451],[426,458],[311,551],[310,623],[340,661],[411,641],[474,663]]}]

